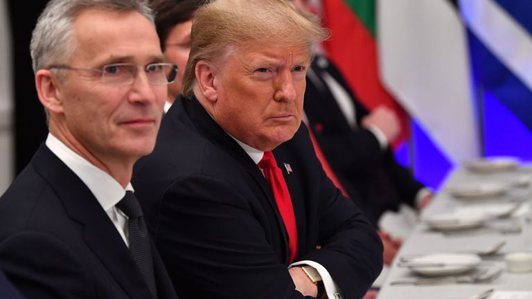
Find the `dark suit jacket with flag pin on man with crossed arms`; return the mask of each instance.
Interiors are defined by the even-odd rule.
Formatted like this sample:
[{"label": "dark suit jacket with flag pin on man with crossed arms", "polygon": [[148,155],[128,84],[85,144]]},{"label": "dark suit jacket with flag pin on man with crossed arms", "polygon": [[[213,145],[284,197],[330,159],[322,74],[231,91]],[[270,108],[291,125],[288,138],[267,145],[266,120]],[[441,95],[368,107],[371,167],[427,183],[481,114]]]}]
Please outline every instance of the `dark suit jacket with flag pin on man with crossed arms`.
[{"label": "dark suit jacket with flag pin on man with crossed arms", "polygon": [[[382,268],[375,230],[326,177],[304,125],[273,152],[292,197],[297,260],[325,266],[345,298],[362,297]],[[195,98],[177,98],[132,182],[179,298],[303,298],[265,177]]]}]

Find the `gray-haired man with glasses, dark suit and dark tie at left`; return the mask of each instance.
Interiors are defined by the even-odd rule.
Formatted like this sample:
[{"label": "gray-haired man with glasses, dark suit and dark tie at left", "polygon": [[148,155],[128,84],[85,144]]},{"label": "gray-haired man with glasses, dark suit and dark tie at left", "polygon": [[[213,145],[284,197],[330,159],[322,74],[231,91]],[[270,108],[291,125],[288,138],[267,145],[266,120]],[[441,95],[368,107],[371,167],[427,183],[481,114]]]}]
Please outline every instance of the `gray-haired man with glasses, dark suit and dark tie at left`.
[{"label": "gray-haired man with glasses, dark suit and dark tie at left", "polygon": [[0,198],[0,268],[27,298],[177,298],[130,184],[175,78],[150,8],[52,0],[30,50],[50,134]]}]

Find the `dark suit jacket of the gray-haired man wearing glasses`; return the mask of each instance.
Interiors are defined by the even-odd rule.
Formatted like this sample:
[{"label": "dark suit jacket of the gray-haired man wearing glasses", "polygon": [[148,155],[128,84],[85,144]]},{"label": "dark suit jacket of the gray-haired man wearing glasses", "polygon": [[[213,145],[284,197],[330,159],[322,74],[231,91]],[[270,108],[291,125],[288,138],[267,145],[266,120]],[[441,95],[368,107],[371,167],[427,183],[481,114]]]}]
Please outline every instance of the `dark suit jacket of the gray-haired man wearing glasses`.
[{"label": "dark suit jacket of the gray-haired man wearing glasses", "polygon": [[[159,298],[177,298],[152,248]],[[96,197],[46,145],[0,198],[0,268],[27,298],[151,298]]]}]

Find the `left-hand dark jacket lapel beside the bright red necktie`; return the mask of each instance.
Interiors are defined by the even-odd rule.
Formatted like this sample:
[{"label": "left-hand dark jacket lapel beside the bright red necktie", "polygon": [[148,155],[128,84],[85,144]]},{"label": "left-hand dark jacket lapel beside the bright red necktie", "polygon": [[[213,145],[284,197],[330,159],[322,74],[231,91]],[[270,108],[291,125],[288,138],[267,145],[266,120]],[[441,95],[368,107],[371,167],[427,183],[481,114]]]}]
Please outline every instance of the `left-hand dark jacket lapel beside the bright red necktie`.
[{"label": "left-hand dark jacket lapel beside the bright red necktie", "polygon": [[236,141],[234,141],[234,139],[231,138],[231,136],[229,136],[229,134],[227,134],[227,132],[225,132],[211,116],[209,116],[202,105],[197,102],[196,98],[184,98],[183,100],[179,99],[180,98],[178,98],[176,102],[181,102],[183,105],[183,107],[179,108],[182,109],[181,111],[186,111],[192,120],[189,125],[193,125],[199,130],[199,132],[203,132],[213,143],[222,147],[222,149],[224,149],[224,151],[233,158],[236,165],[240,165],[245,171],[247,171],[254,179],[256,184],[260,187],[260,190],[262,190],[265,199],[269,203],[269,206],[275,212],[277,225],[279,230],[281,230],[281,235],[284,239],[286,253],[285,261],[290,260],[288,237],[285,224],[283,223],[283,218],[281,217],[281,214],[277,208],[277,204],[275,203],[272,189],[267,183],[263,173],[260,171],[255,162],[251,160],[245,150],[242,149],[242,147],[240,147],[240,145],[238,145],[238,143],[236,143]]}]

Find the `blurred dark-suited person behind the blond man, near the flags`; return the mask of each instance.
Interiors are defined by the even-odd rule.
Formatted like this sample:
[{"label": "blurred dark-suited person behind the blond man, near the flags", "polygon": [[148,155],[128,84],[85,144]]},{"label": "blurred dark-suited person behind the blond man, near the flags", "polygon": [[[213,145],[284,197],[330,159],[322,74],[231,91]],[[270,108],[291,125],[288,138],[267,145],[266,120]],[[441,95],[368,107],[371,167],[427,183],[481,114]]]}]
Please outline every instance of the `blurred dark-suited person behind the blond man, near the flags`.
[{"label": "blurred dark-suited person behind the blond man, near the flags", "polygon": [[[315,11],[309,0],[292,2],[303,11]],[[399,165],[389,147],[400,132],[396,114],[382,106],[367,111],[324,55],[316,55],[307,73],[303,109],[332,170],[348,195],[359,199],[375,228],[384,212],[397,211],[401,203],[420,209],[432,199],[432,192]],[[384,262],[391,264],[401,240],[383,231],[380,236]]]}]

